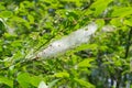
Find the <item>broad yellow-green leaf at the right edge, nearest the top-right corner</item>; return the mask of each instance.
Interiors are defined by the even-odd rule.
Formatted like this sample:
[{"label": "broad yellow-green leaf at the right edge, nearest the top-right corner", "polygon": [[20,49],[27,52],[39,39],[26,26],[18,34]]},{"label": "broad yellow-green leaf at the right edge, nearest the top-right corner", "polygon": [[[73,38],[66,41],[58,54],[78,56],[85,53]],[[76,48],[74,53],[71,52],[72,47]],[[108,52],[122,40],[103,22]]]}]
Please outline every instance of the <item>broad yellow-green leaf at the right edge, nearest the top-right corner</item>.
[{"label": "broad yellow-green leaf at the right edge, nearest the top-right corner", "polygon": [[132,14],[132,7],[122,7],[122,8],[114,8],[112,12],[112,16],[124,18]]}]

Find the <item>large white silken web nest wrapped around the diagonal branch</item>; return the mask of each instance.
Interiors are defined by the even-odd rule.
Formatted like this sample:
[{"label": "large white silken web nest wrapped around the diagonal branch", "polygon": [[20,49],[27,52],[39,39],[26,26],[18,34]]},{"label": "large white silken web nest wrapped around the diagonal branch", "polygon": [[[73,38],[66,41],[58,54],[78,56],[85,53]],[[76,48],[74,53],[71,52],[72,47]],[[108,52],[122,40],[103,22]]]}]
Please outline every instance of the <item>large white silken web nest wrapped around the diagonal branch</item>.
[{"label": "large white silken web nest wrapped around the diagonal branch", "polygon": [[52,42],[45,50],[37,53],[37,57],[50,58],[58,54],[79,46],[82,43],[88,43],[90,36],[97,31],[96,23],[90,23],[87,26],[79,29],[61,40]]}]

